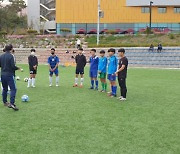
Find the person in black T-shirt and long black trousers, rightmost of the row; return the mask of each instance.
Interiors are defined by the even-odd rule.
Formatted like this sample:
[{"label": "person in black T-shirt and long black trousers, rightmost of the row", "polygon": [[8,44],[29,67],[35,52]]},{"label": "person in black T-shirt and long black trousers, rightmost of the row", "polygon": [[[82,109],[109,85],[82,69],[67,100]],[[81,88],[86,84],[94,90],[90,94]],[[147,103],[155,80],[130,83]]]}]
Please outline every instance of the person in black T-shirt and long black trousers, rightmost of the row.
[{"label": "person in black T-shirt and long black trousers, rightmost of the row", "polygon": [[118,50],[119,56],[121,59],[119,60],[119,69],[116,71],[118,76],[118,82],[120,86],[121,96],[119,99],[121,101],[126,100],[127,87],[126,87],[126,78],[127,78],[127,68],[128,68],[128,59],[125,56],[125,49]]}]

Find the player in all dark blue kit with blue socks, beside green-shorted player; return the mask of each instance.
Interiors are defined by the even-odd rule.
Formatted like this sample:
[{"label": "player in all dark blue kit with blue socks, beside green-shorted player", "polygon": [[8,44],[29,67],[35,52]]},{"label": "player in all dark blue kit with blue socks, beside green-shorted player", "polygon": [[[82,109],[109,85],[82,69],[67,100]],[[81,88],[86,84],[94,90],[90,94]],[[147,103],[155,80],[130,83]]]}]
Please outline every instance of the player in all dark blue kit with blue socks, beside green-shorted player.
[{"label": "player in all dark blue kit with blue socks, beside green-shorted player", "polygon": [[94,89],[94,82],[96,84],[95,90],[98,90],[98,64],[99,58],[96,56],[96,49],[91,49],[91,57],[90,57],[90,72],[89,76],[91,78],[91,87],[90,89]]}]

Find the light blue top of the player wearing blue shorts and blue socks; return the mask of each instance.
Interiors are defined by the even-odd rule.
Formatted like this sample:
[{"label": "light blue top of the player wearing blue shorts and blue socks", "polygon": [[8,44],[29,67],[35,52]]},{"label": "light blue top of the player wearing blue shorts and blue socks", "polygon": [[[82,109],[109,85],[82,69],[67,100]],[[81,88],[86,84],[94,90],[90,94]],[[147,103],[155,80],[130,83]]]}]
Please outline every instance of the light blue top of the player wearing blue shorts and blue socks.
[{"label": "light blue top of the player wearing blue shorts and blue socks", "polygon": [[116,56],[111,56],[108,62],[108,74],[114,74],[117,71],[118,60]]}]

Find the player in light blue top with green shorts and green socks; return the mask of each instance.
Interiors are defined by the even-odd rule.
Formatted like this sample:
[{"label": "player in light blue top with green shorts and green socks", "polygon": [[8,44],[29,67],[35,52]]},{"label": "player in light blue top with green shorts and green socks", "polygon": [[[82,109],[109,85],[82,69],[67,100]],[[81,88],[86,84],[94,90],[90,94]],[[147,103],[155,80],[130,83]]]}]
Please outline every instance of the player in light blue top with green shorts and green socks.
[{"label": "player in light blue top with green shorts and green socks", "polygon": [[105,51],[100,51],[99,65],[98,65],[99,77],[102,84],[101,92],[107,91],[106,73],[107,73],[107,58],[105,57]]}]

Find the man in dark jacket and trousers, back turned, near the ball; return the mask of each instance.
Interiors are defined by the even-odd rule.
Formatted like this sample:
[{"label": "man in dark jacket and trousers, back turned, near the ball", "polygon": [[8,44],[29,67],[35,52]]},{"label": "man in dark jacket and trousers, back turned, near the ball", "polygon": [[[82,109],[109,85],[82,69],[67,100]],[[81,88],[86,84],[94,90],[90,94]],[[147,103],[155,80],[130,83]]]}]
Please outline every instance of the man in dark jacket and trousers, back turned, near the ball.
[{"label": "man in dark jacket and trousers, back turned, near the ball", "polygon": [[[18,111],[19,109],[15,105],[15,97],[16,97],[16,84],[14,79],[14,72],[16,70],[20,70],[19,67],[15,65],[14,57],[11,54],[13,50],[13,46],[6,45],[5,53],[0,56],[0,67],[1,67],[1,82],[3,87],[3,103],[4,106],[8,106],[9,108]],[[10,87],[10,103],[7,101],[7,92],[8,86]]]}]

